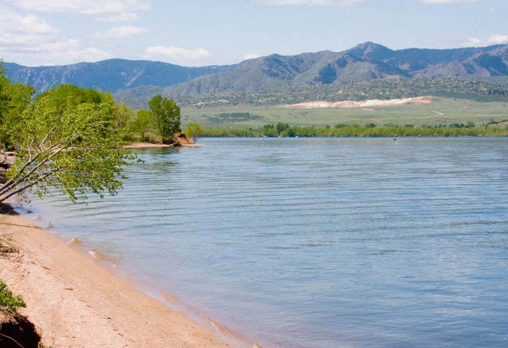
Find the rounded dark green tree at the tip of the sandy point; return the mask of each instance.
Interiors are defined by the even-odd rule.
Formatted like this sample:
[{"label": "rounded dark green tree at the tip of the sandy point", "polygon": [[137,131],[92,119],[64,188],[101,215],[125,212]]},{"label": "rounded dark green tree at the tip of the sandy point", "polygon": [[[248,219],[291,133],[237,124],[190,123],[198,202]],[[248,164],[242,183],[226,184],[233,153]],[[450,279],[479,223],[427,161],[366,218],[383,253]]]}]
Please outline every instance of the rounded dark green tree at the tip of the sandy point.
[{"label": "rounded dark green tree at the tip of the sandy point", "polygon": [[152,112],[163,144],[173,141],[175,134],[180,131],[180,108],[176,102],[157,94],[150,99],[148,107]]}]

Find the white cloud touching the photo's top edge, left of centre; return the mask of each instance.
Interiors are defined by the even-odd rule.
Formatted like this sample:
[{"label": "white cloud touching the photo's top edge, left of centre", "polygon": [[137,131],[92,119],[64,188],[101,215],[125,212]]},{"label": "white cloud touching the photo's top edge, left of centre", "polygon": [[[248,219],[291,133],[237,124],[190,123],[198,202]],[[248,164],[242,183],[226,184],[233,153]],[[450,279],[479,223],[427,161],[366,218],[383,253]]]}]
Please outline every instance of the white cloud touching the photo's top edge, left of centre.
[{"label": "white cloud touching the photo's top edge, left of centre", "polygon": [[16,0],[14,5],[28,11],[71,12],[84,14],[129,13],[148,10],[148,0]]}]

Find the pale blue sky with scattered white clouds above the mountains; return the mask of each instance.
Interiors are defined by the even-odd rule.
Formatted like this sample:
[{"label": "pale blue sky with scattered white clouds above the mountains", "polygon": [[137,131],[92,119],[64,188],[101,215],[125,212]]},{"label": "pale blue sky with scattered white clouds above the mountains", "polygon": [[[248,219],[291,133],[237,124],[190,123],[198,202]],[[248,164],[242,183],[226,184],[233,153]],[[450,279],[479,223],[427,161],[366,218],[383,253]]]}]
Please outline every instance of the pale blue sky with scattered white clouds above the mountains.
[{"label": "pale blue sky with scattered white clouds above the mountains", "polygon": [[0,58],[186,66],[272,53],[508,43],[508,0],[0,0]]}]

